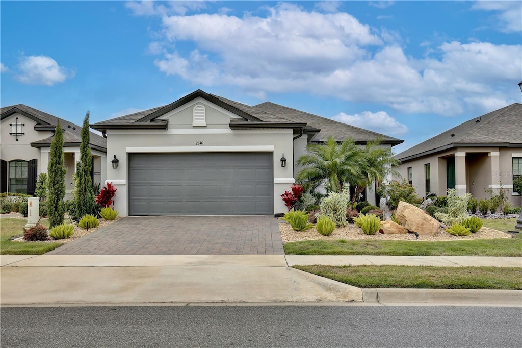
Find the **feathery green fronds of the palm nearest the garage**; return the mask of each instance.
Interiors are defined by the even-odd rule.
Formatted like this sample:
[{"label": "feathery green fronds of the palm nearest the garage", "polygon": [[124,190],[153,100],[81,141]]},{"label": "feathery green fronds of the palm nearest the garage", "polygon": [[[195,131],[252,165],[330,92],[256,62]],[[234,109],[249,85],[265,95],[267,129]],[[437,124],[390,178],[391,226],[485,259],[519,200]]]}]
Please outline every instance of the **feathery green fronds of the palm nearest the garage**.
[{"label": "feathery green fronds of the palm nearest the garage", "polygon": [[308,144],[306,148],[307,154],[297,161],[304,167],[297,180],[307,189],[315,189],[327,181],[331,191],[340,192],[347,182],[364,182],[364,149],[355,145],[352,138],[338,144],[333,136],[329,136],[324,145]]}]

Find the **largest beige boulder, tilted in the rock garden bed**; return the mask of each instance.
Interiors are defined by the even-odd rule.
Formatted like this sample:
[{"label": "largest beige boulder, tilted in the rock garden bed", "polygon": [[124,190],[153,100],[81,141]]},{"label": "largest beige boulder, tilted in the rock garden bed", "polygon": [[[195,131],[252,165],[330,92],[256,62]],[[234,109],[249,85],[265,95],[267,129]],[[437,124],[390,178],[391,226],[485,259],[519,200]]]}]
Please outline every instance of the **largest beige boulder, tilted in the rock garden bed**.
[{"label": "largest beige boulder, tilted in the rock garden bed", "polygon": [[402,226],[419,235],[433,236],[441,226],[440,222],[424,213],[421,208],[402,201],[397,206],[395,217]]}]

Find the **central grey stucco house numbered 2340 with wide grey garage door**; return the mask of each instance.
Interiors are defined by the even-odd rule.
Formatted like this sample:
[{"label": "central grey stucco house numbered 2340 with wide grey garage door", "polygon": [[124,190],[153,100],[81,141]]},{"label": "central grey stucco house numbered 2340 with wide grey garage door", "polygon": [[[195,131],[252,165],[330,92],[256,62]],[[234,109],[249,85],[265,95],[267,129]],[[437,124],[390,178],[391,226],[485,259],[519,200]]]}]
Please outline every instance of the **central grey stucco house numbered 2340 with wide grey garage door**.
[{"label": "central grey stucco house numbered 2340 with wide grey garage door", "polygon": [[[106,134],[107,182],[117,189],[115,208],[122,216],[283,213],[287,208],[280,195],[294,183],[295,161],[307,143],[331,134],[338,141],[352,136],[365,144],[381,135],[201,90],[91,127]],[[383,139],[388,147],[402,142]]]}]

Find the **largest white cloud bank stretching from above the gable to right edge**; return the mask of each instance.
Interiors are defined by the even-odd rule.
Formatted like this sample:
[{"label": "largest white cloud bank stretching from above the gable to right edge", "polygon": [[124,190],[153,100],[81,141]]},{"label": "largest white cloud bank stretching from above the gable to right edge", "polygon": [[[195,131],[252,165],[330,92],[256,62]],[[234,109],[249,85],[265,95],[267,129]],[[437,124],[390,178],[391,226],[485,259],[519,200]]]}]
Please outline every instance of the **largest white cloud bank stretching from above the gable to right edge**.
[{"label": "largest white cloud bank stretching from above the gable to right edge", "polygon": [[[443,42],[425,57],[407,56],[399,34],[347,13],[318,13],[280,3],[266,17],[246,14],[162,16],[167,48],[160,71],[201,86],[237,86],[249,95],[305,92],[381,102],[407,113],[491,111],[515,98],[521,45]],[[372,52],[373,50],[377,50]],[[431,53],[437,53],[437,58]],[[510,97],[511,96],[511,97]],[[483,99],[482,102],[479,100]],[[485,102],[485,100],[495,102]]]}]

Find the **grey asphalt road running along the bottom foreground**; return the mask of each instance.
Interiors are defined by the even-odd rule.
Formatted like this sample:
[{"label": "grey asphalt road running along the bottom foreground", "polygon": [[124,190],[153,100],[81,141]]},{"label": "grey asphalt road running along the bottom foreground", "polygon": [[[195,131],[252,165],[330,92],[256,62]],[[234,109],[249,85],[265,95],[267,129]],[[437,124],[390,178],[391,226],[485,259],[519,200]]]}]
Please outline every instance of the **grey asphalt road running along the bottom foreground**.
[{"label": "grey asphalt road running along the bottom foreground", "polygon": [[2,308],[2,347],[520,347],[522,309],[144,306]]}]

